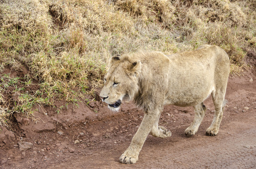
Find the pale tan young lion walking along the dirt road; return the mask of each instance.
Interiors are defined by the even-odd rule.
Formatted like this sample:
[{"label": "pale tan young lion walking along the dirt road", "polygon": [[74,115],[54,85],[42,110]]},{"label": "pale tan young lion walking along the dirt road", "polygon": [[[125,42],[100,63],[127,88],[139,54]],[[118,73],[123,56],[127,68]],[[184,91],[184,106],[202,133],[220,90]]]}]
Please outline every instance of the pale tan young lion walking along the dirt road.
[{"label": "pale tan young lion walking along the dirt road", "polygon": [[100,93],[109,108],[118,111],[124,101],[133,100],[145,115],[132,142],[119,161],[136,163],[147,135],[170,137],[171,131],[158,126],[164,105],[193,106],[195,116],[185,135],[198,131],[210,95],[215,106],[214,119],[206,135],[219,132],[230,71],[229,57],[218,46],[203,45],[197,50],[164,55],[162,52],[136,52],[111,57]]}]

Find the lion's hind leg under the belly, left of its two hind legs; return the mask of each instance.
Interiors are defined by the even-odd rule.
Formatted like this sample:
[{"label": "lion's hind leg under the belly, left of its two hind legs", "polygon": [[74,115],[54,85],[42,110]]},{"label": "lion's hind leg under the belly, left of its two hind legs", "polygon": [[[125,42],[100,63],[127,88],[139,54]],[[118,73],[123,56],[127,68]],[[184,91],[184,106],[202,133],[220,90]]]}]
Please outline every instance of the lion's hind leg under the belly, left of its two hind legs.
[{"label": "lion's hind leg under the belly, left of its two hind legs", "polygon": [[205,117],[206,106],[203,103],[197,104],[194,106],[194,112],[194,120],[192,124],[185,130],[186,136],[192,136],[196,134],[196,132],[198,131],[198,127],[203,120],[203,117]]}]

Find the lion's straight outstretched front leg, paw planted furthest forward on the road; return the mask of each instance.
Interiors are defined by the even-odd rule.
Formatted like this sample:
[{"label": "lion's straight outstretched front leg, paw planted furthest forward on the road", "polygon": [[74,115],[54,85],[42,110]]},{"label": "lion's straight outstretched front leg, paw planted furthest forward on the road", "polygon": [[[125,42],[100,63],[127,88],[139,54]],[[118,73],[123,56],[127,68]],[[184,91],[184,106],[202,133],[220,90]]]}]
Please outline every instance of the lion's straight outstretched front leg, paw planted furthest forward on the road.
[{"label": "lion's straight outstretched front leg, paw planted furthest forward on the road", "polygon": [[138,131],[132,138],[132,143],[129,145],[127,150],[121,155],[119,161],[125,164],[132,164],[138,161],[138,154],[146,140],[147,135],[151,131],[155,120],[160,114],[159,110],[155,112],[148,112],[144,115],[141,125],[138,128]]}]

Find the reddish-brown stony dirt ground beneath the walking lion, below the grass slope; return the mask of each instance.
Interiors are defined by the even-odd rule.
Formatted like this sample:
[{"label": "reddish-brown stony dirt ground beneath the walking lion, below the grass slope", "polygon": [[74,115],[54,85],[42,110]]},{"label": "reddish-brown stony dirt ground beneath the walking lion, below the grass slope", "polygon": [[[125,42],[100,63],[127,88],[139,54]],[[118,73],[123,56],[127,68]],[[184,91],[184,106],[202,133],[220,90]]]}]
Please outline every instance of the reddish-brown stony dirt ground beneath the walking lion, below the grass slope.
[{"label": "reddish-brown stony dirt ground beneath the walking lion, below the grass slope", "polygon": [[[255,60],[247,61],[255,66]],[[191,137],[184,131],[193,121],[193,108],[166,106],[159,124],[172,136],[149,135],[138,162],[130,165],[118,159],[144,115],[132,103],[123,104],[117,113],[101,101],[70,105],[59,114],[38,106],[33,121],[15,114],[14,128],[1,128],[0,168],[256,168],[255,81],[255,69],[229,77],[228,104],[217,136],[205,135],[214,117],[211,97]]]}]

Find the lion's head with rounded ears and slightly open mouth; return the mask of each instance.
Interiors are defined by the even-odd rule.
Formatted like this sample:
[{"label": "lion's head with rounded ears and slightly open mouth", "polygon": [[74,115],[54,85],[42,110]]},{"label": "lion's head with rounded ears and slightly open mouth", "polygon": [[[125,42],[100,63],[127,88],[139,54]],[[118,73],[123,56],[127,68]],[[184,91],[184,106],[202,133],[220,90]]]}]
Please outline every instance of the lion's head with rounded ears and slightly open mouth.
[{"label": "lion's head with rounded ears and slightly open mouth", "polygon": [[139,89],[140,70],[141,62],[131,59],[129,55],[111,58],[109,70],[104,77],[104,86],[99,94],[111,110],[118,111],[123,101],[133,99]]}]

